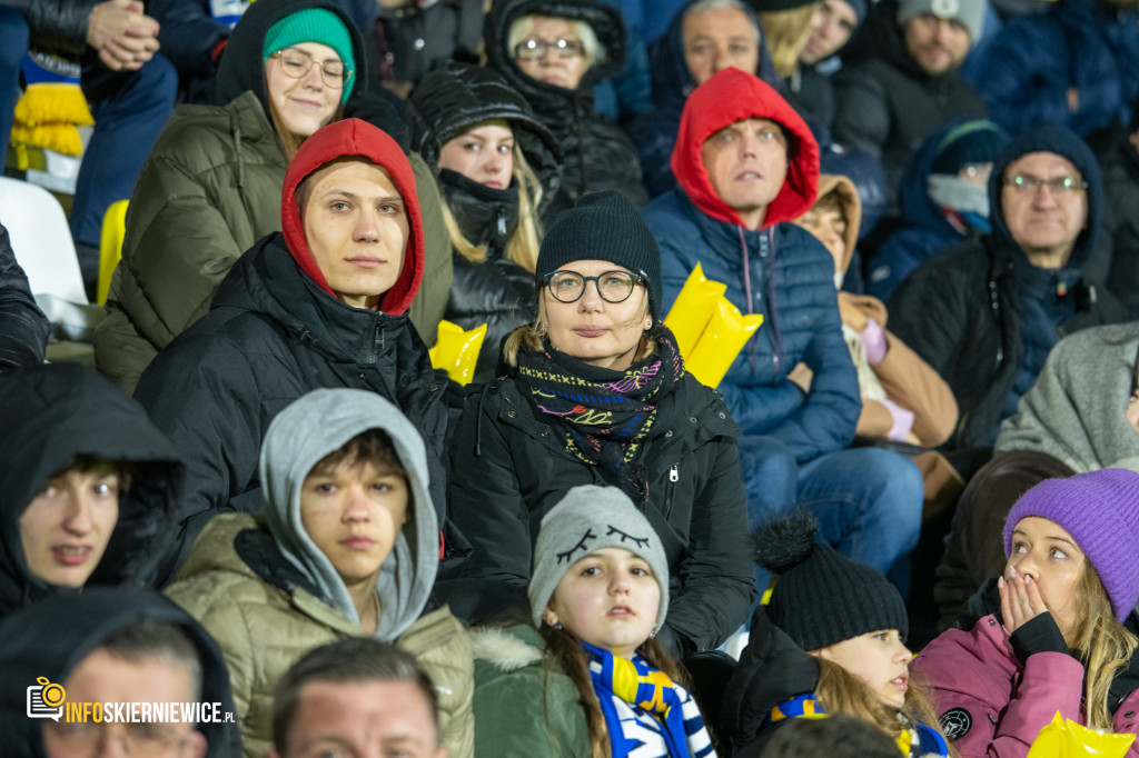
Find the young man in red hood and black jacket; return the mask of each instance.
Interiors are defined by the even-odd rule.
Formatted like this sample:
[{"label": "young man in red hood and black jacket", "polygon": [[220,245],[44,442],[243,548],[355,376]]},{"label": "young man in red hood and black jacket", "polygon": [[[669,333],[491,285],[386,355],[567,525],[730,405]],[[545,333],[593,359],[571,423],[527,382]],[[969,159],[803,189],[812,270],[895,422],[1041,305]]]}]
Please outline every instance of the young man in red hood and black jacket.
[{"label": "young man in red hood and black jacket", "polygon": [[269,422],[322,387],[378,393],[412,420],[443,524],[445,380],[407,315],[425,248],[403,150],[360,120],[320,129],[285,174],[281,229],[238,259],[210,312],[159,354],[134,392],[189,464],[170,570],[211,516],[259,508],[257,453]]}]

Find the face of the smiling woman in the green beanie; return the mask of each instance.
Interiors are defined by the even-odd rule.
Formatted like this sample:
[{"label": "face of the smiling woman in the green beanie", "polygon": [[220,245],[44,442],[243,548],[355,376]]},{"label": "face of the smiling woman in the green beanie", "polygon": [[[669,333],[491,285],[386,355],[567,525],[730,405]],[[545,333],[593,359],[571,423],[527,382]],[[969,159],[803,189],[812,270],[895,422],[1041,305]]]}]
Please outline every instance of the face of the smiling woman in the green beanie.
[{"label": "face of the smiling woman in the green beanie", "polygon": [[310,137],[318,129],[329,123],[336,114],[344,89],[328,85],[321,73],[321,64],[339,61],[336,51],[319,42],[301,42],[286,48],[297,50],[317,65],[310,65],[301,79],[293,79],[285,73],[285,61],[280,56],[272,56],[265,61],[265,86],[269,90],[269,101],[272,104],[273,117],[289,133],[297,137]]}]

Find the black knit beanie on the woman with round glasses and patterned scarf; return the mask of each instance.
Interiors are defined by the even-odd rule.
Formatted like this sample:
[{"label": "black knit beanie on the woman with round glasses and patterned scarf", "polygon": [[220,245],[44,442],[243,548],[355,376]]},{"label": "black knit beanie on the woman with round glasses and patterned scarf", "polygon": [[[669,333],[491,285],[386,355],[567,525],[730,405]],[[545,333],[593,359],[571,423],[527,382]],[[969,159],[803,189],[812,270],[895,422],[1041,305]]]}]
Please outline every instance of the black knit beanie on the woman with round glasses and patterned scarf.
[{"label": "black knit beanie on the woman with round glasses and patterned scarf", "polygon": [[658,320],[661,248],[629,198],[617,190],[590,192],[554,220],[538,253],[534,280],[574,261],[608,261],[645,278],[648,306]]}]

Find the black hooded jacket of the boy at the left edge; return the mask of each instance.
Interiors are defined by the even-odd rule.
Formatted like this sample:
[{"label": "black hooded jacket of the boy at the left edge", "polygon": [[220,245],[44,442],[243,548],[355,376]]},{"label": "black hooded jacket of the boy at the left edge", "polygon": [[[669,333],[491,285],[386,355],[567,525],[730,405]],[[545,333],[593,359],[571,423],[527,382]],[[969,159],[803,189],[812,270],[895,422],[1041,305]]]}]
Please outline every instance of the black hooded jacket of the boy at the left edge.
[{"label": "black hooded jacket of the boy at the left edge", "polygon": [[130,488],[120,495],[115,530],[89,585],[151,582],[177,509],[183,467],[139,404],[79,364],[56,363],[0,374],[0,419],[5,428],[0,618],[50,595],[73,592],[28,574],[18,522],[50,477],[81,454],[129,461],[136,468]]}]

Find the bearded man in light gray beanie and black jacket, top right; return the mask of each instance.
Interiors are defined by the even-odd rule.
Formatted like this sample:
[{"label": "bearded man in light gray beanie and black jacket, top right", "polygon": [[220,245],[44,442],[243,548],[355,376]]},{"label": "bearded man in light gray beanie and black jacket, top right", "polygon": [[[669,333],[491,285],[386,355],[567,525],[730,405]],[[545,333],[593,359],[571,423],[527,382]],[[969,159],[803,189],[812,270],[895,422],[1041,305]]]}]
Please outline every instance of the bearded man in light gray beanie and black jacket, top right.
[{"label": "bearded man in light gray beanie and black jacket, top right", "polygon": [[906,158],[937,126],[957,116],[985,116],[985,106],[960,77],[965,56],[981,39],[985,0],[902,0],[863,34],[872,57],[835,75],[835,140],[882,160],[886,216],[898,215]]}]

